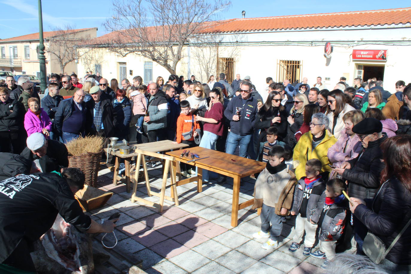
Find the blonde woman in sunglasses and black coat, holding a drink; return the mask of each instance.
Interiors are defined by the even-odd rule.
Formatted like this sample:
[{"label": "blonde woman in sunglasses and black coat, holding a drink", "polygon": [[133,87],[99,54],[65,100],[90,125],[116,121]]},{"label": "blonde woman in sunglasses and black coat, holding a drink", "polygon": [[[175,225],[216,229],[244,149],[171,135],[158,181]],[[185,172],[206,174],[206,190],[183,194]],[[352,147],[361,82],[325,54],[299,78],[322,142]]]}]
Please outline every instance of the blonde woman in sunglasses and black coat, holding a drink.
[{"label": "blonde woman in sunglasses and black coat, holding a drink", "polygon": [[304,113],[305,105],[308,104],[308,98],[305,94],[298,93],[294,97],[293,104],[294,106],[291,108],[290,115],[287,118],[289,125],[287,128],[287,136],[284,139],[284,143],[290,147],[294,147],[297,144],[295,135],[304,122],[302,113]]}]

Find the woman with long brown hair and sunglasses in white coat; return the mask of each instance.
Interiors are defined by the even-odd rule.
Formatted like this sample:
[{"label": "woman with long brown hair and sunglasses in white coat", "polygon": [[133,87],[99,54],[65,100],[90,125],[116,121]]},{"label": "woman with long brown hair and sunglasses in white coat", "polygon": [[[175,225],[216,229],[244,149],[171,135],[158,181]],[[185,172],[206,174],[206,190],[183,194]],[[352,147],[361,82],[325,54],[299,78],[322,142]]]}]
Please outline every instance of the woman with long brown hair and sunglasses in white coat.
[{"label": "woman with long brown hair and sunglasses in white coat", "polygon": [[328,93],[327,100],[328,106],[330,107],[326,112],[328,119],[330,119],[330,124],[327,129],[338,139],[344,128],[342,117],[345,113],[355,110],[355,108],[346,104],[344,92],[341,90],[333,90]]}]

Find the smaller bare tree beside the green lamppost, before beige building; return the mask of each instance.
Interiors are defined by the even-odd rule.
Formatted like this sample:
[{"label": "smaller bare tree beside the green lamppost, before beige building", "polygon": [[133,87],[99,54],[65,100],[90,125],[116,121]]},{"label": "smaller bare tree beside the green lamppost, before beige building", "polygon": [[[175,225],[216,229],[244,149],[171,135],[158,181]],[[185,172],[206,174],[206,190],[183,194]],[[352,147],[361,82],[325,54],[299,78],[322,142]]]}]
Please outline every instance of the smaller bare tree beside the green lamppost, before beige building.
[{"label": "smaller bare tree beside the green lamppost, before beige building", "polygon": [[86,48],[77,51],[76,46],[87,44],[90,35],[78,32],[69,25],[65,28],[55,28],[52,31],[54,35],[48,37],[49,46],[46,48],[46,52],[50,53],[51,60],[58,62],[63,73],[69,62],[79,60],[83,54],[88,52]]}]

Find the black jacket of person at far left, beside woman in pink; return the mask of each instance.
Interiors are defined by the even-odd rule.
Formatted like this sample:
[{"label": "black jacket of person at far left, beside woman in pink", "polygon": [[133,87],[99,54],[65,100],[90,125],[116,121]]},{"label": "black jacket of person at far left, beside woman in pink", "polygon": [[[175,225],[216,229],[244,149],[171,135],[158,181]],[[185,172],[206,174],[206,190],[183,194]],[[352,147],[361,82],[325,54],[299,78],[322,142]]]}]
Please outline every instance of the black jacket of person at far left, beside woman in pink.
[{"label": "black jacket of person at far left, beside woman in pink", "polygon": [[[13,112],[10,112],[13,111]],[[16,131],[23,127],[24,107],[14,99],[0,102],[0,131]]]}]

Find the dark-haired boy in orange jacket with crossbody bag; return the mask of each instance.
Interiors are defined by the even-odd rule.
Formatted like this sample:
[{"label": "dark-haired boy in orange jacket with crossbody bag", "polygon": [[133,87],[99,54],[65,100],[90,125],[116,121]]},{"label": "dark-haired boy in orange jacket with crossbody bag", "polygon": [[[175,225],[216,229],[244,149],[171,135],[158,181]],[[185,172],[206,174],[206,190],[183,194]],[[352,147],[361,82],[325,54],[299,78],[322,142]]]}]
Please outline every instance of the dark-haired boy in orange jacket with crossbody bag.
[{"label": "dark-haired boy in orange jacket with crossbody bag", "polygon": [[[200,129],[199,122],[196,122],[196,115],[190,113],[190,103],[186,100],[180,102],[181,113],[177,119],[177,134],[174,144],[187,144],[189,147],[197,146],[194,142],[194,137],[198,135],[196,129]],[[181,175],[184,177],[191,177],[190,174],[196,172],[190,168],[191,166],[186,163],[180,163],[182,171]]]}]

